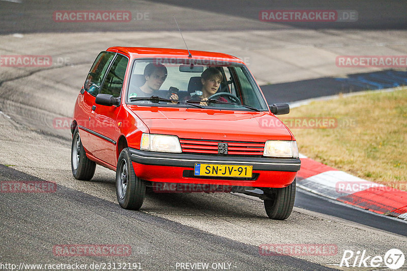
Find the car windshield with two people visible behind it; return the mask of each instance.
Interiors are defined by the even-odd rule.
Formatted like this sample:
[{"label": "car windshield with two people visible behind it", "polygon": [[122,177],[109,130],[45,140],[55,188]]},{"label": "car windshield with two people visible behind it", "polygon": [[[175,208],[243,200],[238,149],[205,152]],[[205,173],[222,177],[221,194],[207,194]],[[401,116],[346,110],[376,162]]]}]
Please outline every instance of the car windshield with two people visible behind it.
[{"label": "car windshield with two people visible behind it", "polygon": [[[203,61],[165,58],[134,61],[127,103],[268,110],[265,99],[244,65],[212,60],[210,65],[205,65]],[[162,99],[151,99],[151,96]]]}]

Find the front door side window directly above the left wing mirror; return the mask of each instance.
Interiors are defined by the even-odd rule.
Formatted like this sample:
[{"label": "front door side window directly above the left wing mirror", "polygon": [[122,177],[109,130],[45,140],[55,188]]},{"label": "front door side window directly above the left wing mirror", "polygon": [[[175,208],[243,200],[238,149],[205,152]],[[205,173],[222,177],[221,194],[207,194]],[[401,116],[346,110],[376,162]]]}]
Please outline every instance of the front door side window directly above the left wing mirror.
[{"label": "front door side window directly above the left wing mirror", "polygon": [[120,96],[128,62],[127,57],[118,54],[110,67],[100,93],[110,94],[114,97]]}]

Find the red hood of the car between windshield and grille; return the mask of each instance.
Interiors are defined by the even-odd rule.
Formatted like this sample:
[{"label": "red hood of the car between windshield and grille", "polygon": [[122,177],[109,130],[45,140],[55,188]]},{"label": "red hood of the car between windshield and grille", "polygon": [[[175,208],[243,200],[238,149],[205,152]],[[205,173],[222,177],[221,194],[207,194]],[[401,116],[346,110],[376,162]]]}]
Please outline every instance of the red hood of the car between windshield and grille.
[{"label": "red hood of the car between windshield and grille", "polygon": [[159,108],[130,105],[150,133],[173,134],[186,139],[263,142],[292,140],[288,128],[270,112]]}]

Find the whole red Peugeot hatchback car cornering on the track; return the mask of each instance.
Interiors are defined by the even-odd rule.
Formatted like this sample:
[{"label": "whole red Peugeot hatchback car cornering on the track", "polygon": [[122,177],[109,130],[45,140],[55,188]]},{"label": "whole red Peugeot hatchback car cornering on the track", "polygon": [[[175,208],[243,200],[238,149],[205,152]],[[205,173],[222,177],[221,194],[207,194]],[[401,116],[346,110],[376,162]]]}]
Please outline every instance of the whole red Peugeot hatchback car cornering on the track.
[{"label": "whole red Peugeot hatchback car cornering on the track", "polygon": [[242,60],[222,53],[111,47],[96,58],[71,124],[72,173],[116,172],[122,208],[155,192],[239,192],[267,215],[293,210],[297,142]]}]

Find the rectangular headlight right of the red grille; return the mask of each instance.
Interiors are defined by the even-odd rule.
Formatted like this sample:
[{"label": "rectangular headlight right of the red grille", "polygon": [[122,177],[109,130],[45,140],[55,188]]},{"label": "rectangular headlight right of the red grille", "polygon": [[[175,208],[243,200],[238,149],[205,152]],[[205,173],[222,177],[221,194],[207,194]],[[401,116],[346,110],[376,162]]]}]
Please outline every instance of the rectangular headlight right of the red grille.
[{"label": "rectangular headlight right of the red grille", "polygon": [[299,157],[297,141],[268,140],[264,146],[264,156]]}]

